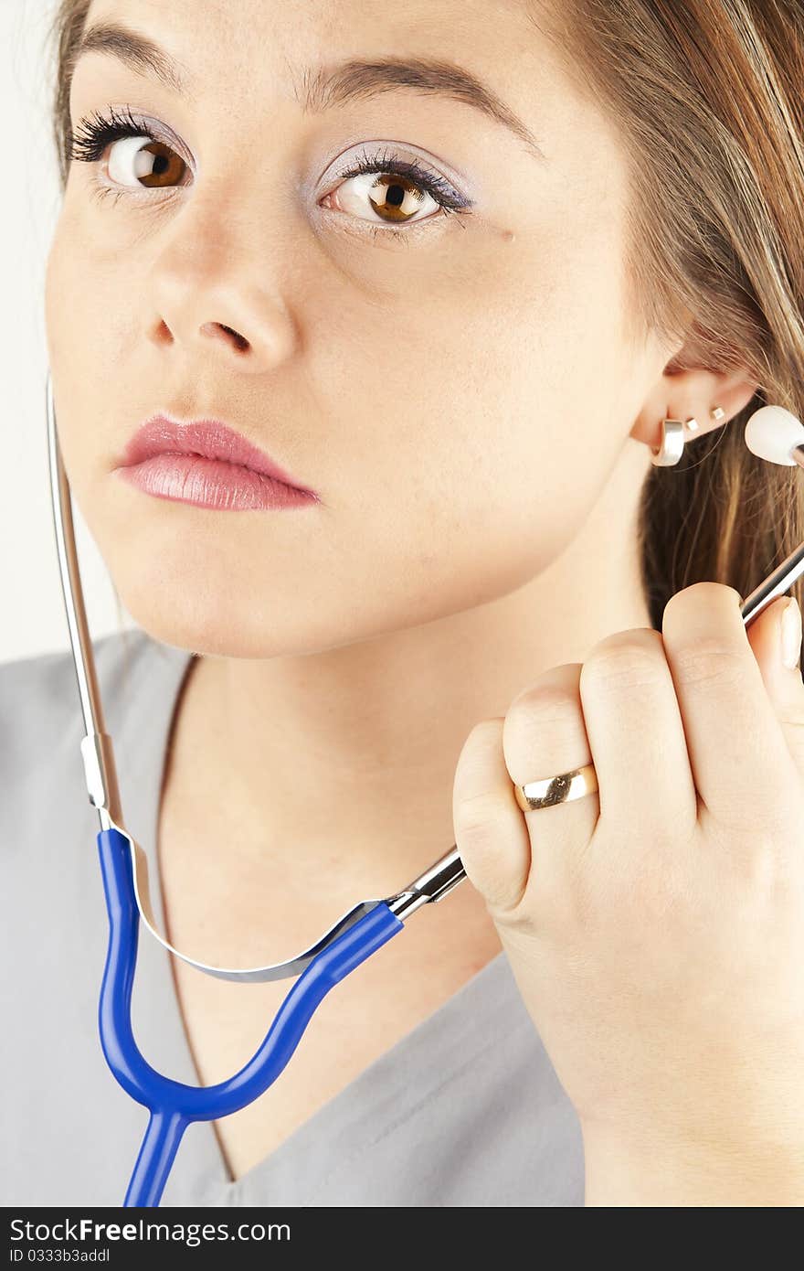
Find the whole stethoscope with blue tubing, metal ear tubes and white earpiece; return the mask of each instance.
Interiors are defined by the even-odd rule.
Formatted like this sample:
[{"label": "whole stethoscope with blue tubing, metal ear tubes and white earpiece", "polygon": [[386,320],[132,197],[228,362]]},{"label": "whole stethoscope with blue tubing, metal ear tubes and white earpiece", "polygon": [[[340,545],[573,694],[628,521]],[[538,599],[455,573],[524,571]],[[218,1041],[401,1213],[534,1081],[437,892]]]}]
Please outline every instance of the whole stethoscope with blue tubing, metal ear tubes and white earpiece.
[{"label": "whole stethoscope with blue tubing, metal ear tubes and white earpiece", "polygon": [[[98,691],[72,526],[72,500],[56,433],[50,370],[46,405],[58,567],[84,717],[81,758],[89,801],[98,808],[100,819],[97,841],[109,919],[98,1010],[100,1045],[116,1079],[150,1113],[123,1205],[157,1206],[187,1126],[193,1121],[229,1116],[258,1098],[285,1069],[314,1010],[329,990],[396,935],[418,909],[443,900],[466,877],[466,871],[453,844],[446,855],[395,896],[358,901],[310,948],[287,962],[271,966],[208,966],[182,953],[159,933],[149,894],[147,858],[121,825],[112,738],[104,728]],[[804,425],[782,407],[766,405],[756,411],[746,426],[746,442],[749,450],[770,463],[804,468]],[[742,615],[746,627],[784,595],[801,573],[804,543],[744,601]],[[140,918],[165,949],[206,975],[250,981],[298,975],[264,1041],[227,1082],[208,1087],[185,1085],[163,1077],[140,1052],[131,1024]]]}]

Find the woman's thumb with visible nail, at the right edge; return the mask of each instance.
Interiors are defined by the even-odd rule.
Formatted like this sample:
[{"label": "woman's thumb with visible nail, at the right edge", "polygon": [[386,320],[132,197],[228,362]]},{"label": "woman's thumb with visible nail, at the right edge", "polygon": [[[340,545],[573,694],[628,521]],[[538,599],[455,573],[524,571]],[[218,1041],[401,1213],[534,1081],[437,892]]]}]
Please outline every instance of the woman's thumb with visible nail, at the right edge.
[{"label": "woman's thumb with visible nail, at the right edge", "polygon": [[749,627],[746,628],[748,643],[757,660],[771,705],[776,712],[787,750],[800,777],[804,777],[804,680],[801,679],[801,616],[793,605],[791,661],[795,666],[785,666],[782,661],[782,623],[781,618],[790,604],[790,596],[780,596],[768,605]]}]

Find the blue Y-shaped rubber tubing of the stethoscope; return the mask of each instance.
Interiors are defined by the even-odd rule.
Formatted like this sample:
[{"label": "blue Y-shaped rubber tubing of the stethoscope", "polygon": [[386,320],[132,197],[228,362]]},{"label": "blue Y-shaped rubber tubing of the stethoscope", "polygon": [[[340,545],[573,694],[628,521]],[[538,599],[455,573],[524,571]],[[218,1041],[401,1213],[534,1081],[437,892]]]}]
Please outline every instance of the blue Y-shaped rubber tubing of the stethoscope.
[{"label": "blue Y-shaped rubber tubing of the stethoscope", "polygon": [[156,1206],[187,1126],[192,1121],[212,1121],[238,1112],[268,1089],[329,990],[396,935],[404,924],[385,901],[380,901],[312,958],[285,998],[263,1042],[239,1073],[217,1085],[185,1085],[151,1068],[131,1026],[140,911],[128,840],[116,829],[100,830],[98,853],[109,918],[98,1010],[100,1045],[126,1093],[150,1111],[123,1206]]}]

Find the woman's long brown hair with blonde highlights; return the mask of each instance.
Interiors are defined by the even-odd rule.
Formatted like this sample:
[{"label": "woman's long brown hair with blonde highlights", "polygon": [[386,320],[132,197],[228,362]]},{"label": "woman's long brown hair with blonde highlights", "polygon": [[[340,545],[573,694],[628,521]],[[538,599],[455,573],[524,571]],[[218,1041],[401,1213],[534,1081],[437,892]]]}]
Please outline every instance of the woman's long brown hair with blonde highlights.
[{"label": "woman's long brown hair with blonde highlights", "polygon": [[[89,4],[61,0],[51,28],[62,188]],[[625,141],[633,329],[686,334],[678,369],[742,367],[758,384],[739,414],[645,479],[641,576],[660,630],[676,591],[711,580],[746,597],[804,540],[799,469],[762,463],[743,438],[767,402],[804,418],[804,11],[800,0],[523,5]],[[789,590],[801,604],[801,580]]]}]

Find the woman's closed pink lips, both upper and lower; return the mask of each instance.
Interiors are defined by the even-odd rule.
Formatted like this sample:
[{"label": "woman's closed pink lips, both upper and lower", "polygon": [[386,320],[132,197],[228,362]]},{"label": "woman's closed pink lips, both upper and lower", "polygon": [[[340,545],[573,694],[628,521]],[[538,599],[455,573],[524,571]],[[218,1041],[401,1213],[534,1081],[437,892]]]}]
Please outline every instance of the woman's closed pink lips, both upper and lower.
[{"label": "woman's closed pink lips, both upper and lower", "polygon": [[116,469],[149,494],[231,511],[320,502],[218,419],[178,423],[155,414],[137,430]]}]

